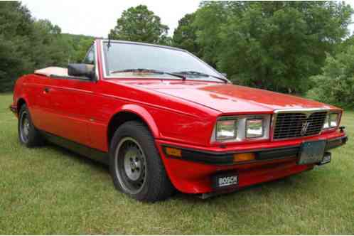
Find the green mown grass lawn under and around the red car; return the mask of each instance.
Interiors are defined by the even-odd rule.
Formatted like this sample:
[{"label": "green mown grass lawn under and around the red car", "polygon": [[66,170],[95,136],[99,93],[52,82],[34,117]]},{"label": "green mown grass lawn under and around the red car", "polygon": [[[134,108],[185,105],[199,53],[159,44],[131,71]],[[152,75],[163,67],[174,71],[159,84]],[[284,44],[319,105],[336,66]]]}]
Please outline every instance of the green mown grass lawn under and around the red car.
[{"label": "green mown grass lawn under and around the red car", "polygon": [[[55,146],[26,149],[0,95],[0,235],[353,234],[354,145],[321,168],[200,200],[139,203],[115,191],[107,167]],[[343,124],[354,135],[354,112]]]}]

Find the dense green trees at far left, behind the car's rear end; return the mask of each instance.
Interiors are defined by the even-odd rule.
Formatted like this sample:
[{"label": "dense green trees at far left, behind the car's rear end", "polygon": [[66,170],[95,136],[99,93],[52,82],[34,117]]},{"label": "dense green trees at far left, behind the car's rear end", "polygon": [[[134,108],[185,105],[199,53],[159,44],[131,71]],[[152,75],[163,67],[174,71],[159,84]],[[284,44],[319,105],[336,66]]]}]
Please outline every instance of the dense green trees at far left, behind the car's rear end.
[{"label": "dense green trees at far left, behind the car's rear end", "polygon": [[18,1],[0,3],[0,92],[38,68],[82,60],[93,38],[62,34],[48,20],[34,20]]}]

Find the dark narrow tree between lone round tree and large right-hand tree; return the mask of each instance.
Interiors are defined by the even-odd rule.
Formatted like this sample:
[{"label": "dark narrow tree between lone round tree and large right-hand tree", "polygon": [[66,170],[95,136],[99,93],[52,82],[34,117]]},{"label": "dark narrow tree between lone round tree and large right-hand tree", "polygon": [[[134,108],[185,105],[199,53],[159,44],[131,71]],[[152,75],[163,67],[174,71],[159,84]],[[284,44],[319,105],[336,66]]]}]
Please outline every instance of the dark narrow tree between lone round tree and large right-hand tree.
[{"label": "dark narrow tree between lone round tree and large right-hand tree", "polygon": [[183,48],[200,56],[200,45],[197,42],[197,29],[193,26],[195,14],[186,14],[178,21],[178,27],[173,32],[172,45]]}]

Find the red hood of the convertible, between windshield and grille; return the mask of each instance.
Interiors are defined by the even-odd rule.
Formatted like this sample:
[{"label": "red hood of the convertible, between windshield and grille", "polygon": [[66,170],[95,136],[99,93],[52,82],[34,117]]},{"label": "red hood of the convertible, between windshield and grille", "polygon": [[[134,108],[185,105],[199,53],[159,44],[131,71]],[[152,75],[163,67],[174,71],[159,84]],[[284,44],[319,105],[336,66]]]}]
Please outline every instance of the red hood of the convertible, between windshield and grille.
[{"label": "red hood of the convertible, between windshield and grille", "polygon": [[215,82],[150,80],[132,81],[128,84],[202,104],[222,113],[273,112],[275,109],[336,108],[321,102],[278,92]]}]

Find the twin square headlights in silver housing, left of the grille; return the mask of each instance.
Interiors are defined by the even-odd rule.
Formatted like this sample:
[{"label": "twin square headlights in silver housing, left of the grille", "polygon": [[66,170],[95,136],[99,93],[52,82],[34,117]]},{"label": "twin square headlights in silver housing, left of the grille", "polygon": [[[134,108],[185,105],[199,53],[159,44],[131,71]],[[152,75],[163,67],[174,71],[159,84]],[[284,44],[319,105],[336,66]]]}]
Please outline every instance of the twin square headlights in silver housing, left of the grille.
[{"label": "twin square headlights in silver housing, left of the grille", "polygon": [[211,141],[269,139],[270,114],[220,117]]}]

